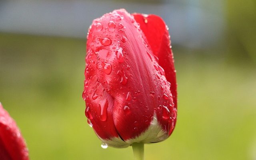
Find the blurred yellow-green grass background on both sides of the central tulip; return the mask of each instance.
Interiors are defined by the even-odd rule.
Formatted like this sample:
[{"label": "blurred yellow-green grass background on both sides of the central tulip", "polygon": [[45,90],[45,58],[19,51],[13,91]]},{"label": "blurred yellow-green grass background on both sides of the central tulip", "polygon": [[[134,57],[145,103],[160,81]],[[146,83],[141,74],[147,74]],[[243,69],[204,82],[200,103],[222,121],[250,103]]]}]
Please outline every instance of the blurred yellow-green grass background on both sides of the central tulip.
[{"label": "blurred yellow-green grass background on both sides of the central tulip", "polygon": [[[0,33],[0,101],[31,160],[133,157],[131,147],[102,149],[86,122],[85,46],[83,39]],[[168,140],[146,145],[146,160],[256,159],[255,66],[173,48],[178,122]]]}]

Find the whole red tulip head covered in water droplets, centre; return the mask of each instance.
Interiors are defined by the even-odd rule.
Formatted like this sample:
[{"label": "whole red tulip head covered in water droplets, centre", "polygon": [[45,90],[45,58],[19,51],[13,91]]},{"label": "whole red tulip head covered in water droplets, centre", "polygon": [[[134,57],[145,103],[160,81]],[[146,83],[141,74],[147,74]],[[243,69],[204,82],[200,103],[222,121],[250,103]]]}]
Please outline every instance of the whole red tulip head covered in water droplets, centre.
[{"label": "whole red tulip head covered in water droplets, centre", "polygon": [[97,136],[118,148],[168,138],[176,71],[162,18],[114,10],[92,22],[87,38],[83,98]]}]

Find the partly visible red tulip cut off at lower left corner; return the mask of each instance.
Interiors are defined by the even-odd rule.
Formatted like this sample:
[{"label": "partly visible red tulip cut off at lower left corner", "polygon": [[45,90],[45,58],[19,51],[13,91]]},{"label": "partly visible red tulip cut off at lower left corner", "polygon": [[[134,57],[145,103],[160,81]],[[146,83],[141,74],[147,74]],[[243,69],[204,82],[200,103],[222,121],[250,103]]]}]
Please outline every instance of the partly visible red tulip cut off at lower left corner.
[{"label": "partly visible red tulip cut off at lower left corner", "polygon": [[16,122],[0,103],[0,160],[28,159],[28,149]]}]

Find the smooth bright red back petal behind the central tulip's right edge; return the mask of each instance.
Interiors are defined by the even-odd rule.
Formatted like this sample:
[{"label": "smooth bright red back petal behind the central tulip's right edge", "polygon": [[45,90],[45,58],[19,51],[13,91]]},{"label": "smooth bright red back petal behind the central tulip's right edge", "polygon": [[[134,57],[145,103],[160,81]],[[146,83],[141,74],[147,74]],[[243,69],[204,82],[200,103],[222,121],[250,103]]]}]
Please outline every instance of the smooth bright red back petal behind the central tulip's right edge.
[{"label": "smooth bright red back petal behind the central tulip's right edge", "polygon": [[150,14],[132,14],[136,22],[140,24],[140,28],[143,31],[146,39],[154,53],[159,59],[159,65],[164,69],[166,79],[171,83],[171,92],[174,101],[174,111],[172,116],[174,117],[170,121],[169,135],[172,133],[176,124],[176,112],[177,112],[177,84],[176,84],[176,70],[174,68],[174,59],[171,49],[171,41],[168,33],[168,27],[164,23],[161,17]]}]

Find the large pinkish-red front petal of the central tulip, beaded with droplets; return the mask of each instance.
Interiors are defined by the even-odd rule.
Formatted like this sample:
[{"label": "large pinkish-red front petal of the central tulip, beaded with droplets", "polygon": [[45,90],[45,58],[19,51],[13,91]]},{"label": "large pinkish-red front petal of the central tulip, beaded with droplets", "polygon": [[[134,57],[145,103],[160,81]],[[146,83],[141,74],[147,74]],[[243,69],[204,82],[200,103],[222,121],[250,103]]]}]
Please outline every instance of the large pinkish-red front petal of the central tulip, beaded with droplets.
[{"label": "large pinkish-red front petal of the central tulip, beaded with droplets", "polygon": [[[143,36],[138,24],[125,10],[116,10],[94,20],[88,34],[86,62],[89,64],[86,66],[85,84],[90,86],[97,81],[109,94],[107,97],[113,98],[113,106],[108,105],[112,112],[109,109],[107,112],[113,113],[117,134],[126,142],[134,142],[131,139],[148,133],[150,122],[155,121],[161,124],[161,133],[168,134],[172,115],[170,83]],[[93,66],[89,66],[92,64],[90,61],[94,61]],[[96,91],[88,90],[85,88],[84,98],[94,96]],[[96,99],[86,100],[87,106],[93,100]],[[95,101],[92,108],[96,108],[97,103]],[[110,119],[112,126],[110,116],[108,114],[106,121]]]}]

